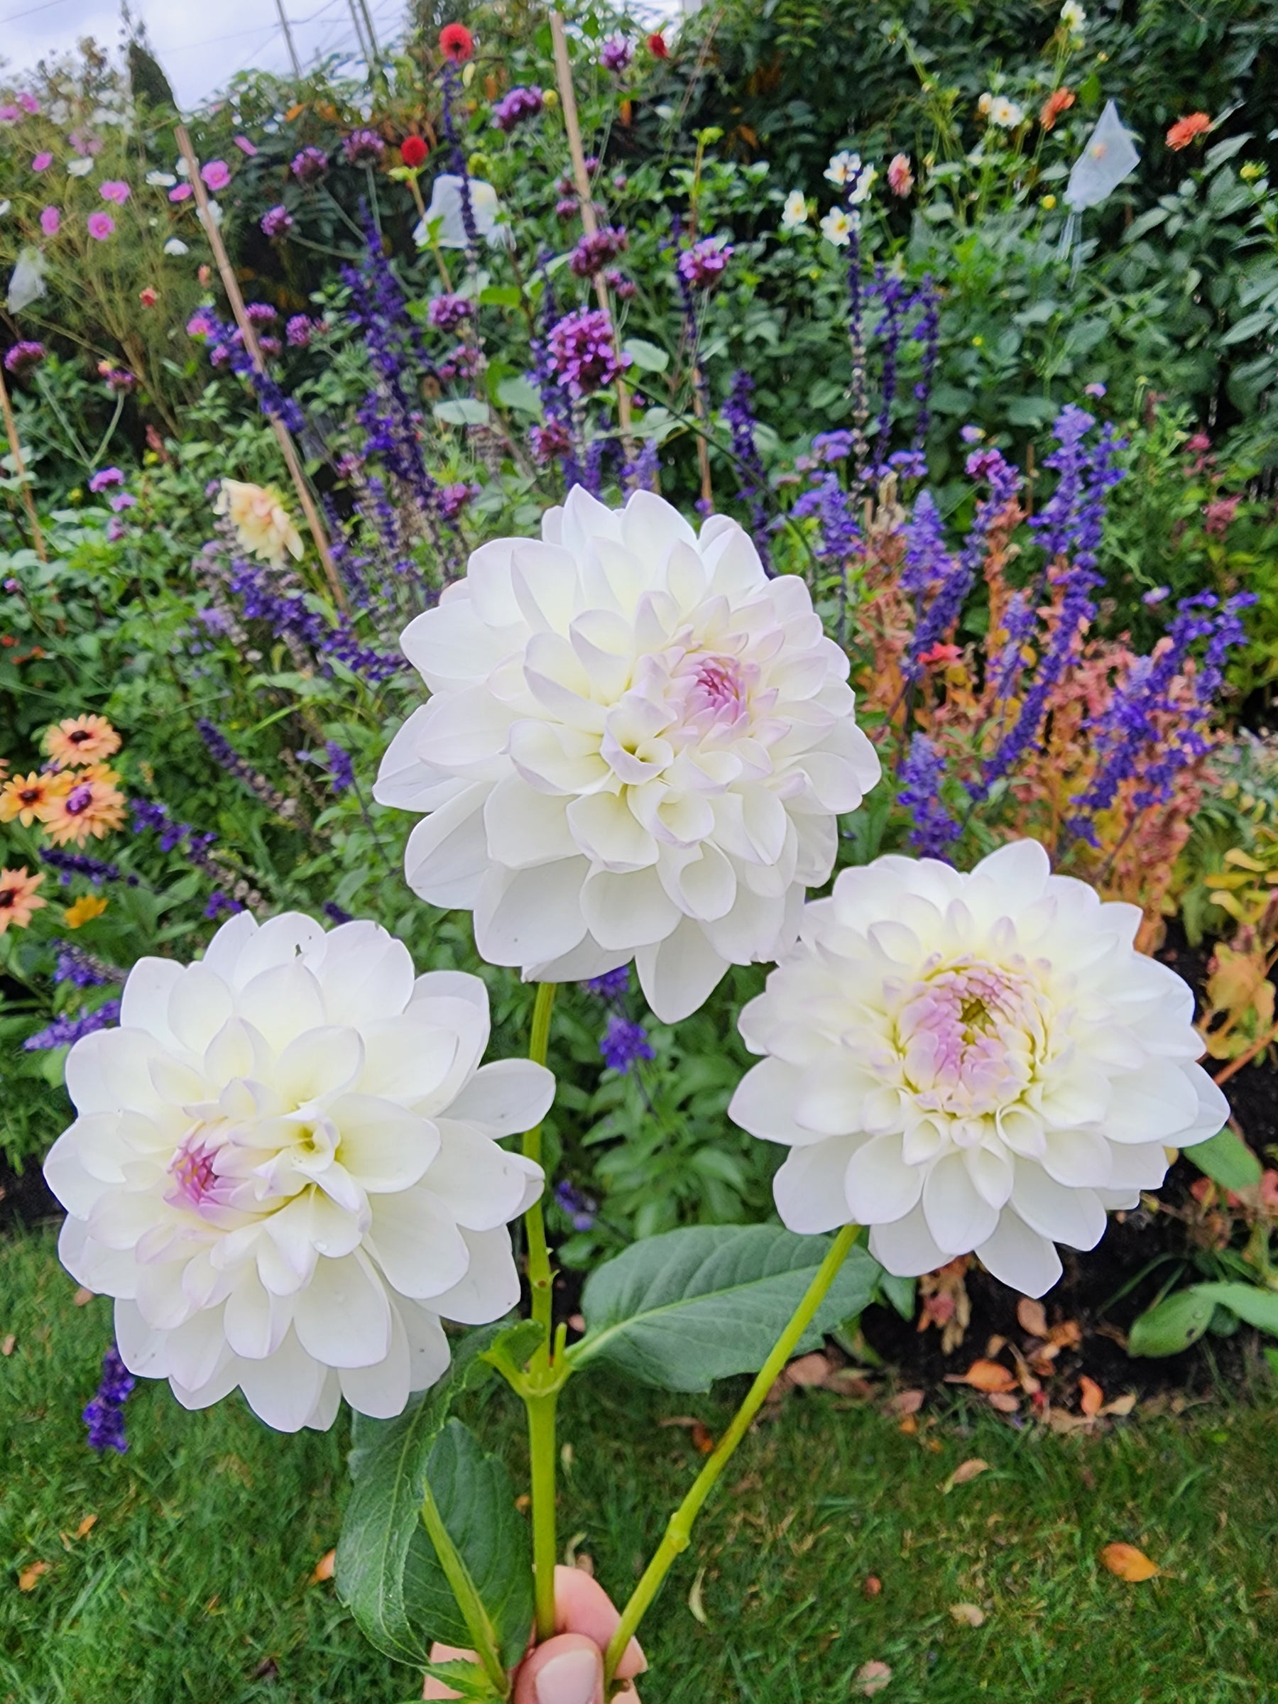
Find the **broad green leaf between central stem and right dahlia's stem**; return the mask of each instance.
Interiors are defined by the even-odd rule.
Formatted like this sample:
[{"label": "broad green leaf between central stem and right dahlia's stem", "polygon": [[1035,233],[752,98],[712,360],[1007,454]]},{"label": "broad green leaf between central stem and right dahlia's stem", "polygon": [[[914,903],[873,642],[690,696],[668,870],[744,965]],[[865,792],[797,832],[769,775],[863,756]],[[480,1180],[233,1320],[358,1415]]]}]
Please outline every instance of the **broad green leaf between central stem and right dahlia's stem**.
[{"label": "broad green leaf between central stem and right dahlia's stem", "polygon": [[[636,1242],[586,1280],[578,1365],[603,1361],[663,1390],[709,1390],[753,1373],[803,1300],[830,1247],[779,1225],[697,1225]],[[797,1351],[859,1314],[879,1264],[854,1247]]]}]

